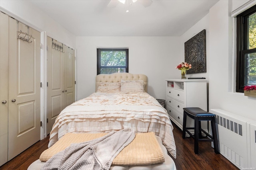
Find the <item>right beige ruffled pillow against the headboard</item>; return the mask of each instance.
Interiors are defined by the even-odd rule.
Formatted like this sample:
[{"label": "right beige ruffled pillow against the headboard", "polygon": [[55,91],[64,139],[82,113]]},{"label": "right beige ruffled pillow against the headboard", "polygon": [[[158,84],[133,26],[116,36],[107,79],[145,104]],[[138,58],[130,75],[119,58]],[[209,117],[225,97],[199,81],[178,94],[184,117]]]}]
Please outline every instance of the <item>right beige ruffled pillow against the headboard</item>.
[{"label": "right beige ruffled pillow against the headboard", "polygon": [[143,80],[121,80],[121,92],[145,92]]}]

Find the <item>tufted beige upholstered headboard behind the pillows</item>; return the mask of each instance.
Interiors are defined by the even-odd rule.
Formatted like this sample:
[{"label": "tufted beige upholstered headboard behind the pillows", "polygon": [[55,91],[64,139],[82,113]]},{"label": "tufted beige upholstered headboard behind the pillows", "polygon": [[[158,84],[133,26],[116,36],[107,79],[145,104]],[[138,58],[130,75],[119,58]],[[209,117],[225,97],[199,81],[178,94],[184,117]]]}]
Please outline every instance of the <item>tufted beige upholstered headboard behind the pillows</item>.
[{"label": "tufted beige upholstered headboard behind the pillows", "polygon": [[148,77],[144,74],[130,74],[128,72],[116,72],[113,74],[98,74],[96,76],[96,90],[100,82],[121,82],[121,80],[143,80],[145,92],[148,92]]}]

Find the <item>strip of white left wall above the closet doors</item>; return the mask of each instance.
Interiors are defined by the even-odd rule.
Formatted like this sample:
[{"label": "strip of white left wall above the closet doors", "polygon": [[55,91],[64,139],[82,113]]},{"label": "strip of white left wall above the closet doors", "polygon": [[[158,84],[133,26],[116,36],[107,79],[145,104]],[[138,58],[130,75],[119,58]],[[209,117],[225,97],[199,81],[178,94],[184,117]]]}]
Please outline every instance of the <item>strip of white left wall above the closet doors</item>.
[{"label": "strip of white left wall above the closet doors", "polygon": [[68,47],[76,48],[76,37],[26,0],[1,0],[0,10]]}]

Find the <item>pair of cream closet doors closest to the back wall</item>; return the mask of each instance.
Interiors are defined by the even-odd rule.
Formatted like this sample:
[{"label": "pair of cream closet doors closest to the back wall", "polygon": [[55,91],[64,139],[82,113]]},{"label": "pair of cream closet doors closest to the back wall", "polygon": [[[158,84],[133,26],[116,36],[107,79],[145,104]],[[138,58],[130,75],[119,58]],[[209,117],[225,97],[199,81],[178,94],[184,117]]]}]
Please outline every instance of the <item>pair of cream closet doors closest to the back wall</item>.
[{"label": "pair of cream closet doors closest to the back wall", "polygon": [[47,134],[59,113],[75,101],[74,50],[47,37]]}]

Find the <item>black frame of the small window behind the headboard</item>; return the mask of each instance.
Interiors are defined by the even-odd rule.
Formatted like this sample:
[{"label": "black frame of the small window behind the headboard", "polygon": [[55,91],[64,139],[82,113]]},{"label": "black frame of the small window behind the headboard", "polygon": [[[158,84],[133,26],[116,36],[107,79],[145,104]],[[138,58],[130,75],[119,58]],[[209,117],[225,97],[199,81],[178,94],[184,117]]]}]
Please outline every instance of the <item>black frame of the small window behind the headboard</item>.
[{"label": "black frame of the small window behind the headboard", "polygon": [[[126,59],[125,59],[125,66],[101,66],[101,51],[125,51]],[[125,68],[125,72],[128,72],[128,59],[129,59],[129,49],[128,48],[97,48],[97,75],[101,74],[100,69],[102,67],[105,68]]]}]

